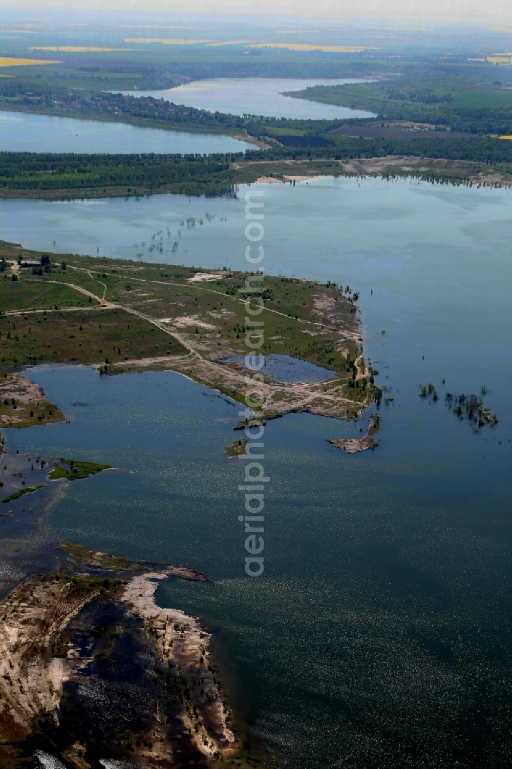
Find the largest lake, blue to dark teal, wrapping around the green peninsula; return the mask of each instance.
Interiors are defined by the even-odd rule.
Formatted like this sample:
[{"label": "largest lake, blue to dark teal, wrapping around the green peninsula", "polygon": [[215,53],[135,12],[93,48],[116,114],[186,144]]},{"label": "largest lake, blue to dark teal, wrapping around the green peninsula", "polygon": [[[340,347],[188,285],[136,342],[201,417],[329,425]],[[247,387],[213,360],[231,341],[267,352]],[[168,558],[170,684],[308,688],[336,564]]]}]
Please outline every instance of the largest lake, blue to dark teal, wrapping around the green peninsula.
[{"label": "largest lake, blue to dark teal, wrapping around the green peninsula", "polygon": [[[326,440],[356,437],[354,424],[268,423],[263,577],[244,576],[243,464],[222,454],[238,408],[201,385],[38,368],[71,423],[6,431],[8,447],[121,468],[68,488],[49,517],[63,537],[214,579],[167,583],[157,598],[215,632],[233,702],[272,767],[505,765],[510,191],[322,178],[268,185],[264,200],[265,266],[360,291],[367,355],[394,400],[381,405],[378,447],[354,456]],[[243,194],[0,201],[0,217],[8,240],[98,241],[109,255],[133,255],[135,234],[167,224],[182,231],[167,261],[245,266]],[[419,397],[429,381],[437,403]],[[444,404],[483,384],[495,428]]]}]

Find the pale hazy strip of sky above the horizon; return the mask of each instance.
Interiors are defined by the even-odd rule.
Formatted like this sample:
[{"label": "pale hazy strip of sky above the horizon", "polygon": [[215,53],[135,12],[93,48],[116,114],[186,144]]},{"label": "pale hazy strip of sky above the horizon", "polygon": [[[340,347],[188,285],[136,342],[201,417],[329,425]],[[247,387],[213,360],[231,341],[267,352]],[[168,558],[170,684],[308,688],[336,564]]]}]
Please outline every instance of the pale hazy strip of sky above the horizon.
[{"label": "pale hazy strip of sky above the horizon", "polygon": [[314,15],[350,18],[401,18],[407,22],[453,22],[497,25],[512,22],[512,0],[1,0],[1,8],[62,8],[83,12],[248,13],[251,15]]}]

